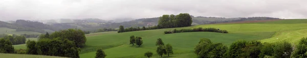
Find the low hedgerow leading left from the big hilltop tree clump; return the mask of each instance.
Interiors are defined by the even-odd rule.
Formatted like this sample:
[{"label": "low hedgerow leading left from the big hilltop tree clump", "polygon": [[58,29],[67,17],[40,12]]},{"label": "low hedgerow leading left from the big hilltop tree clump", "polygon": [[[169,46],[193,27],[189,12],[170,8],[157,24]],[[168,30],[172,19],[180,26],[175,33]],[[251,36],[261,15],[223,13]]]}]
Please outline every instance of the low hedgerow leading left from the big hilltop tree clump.
[{"label": "low hedgerow leading left from the big hilltop tree clump", "polygon": [[143,31],[143,30],[155,30],[155,29],[159,29],[158,26],[148,26],[145,27],[143,26],[141,27],[127,27],[124,28],[124,26],[120,25],[119,26],[119,30],[117,33],[124,33],[124,32],[133,32],[133,31]]}]

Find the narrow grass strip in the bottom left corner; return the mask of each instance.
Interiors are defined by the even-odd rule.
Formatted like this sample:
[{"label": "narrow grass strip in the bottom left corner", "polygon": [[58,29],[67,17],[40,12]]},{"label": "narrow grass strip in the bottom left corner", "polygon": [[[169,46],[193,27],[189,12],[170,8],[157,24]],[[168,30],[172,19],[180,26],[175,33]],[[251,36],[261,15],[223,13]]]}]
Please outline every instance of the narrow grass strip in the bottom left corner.
[{"label": "narrow grass strip in the bottom left corner", "polygon": [[59,56],[47,56],[47,55],[30,55],[30,54],[8,54],[0,53],[1,58],[67,58]]}]

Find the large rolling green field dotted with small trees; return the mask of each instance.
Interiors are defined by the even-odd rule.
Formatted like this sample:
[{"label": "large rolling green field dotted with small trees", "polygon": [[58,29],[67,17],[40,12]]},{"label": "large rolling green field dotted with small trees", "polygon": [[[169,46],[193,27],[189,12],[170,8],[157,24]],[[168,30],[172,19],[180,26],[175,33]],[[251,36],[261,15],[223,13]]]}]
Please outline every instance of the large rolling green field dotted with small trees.
[{"label": "large rolling green field dotted with small trees", "polygon": [[[195,45],[202,38],[210,39],[214,43],[230,45],[237,40],[278,42],[289,41],[293,44],[302,37],[307,37],[307,20],[291,19],[277,20],[269,22],[254,23],[230,23],[230,24],[206,24],[189,27],[178,27],[177,30],[195,27],[214,27],[227,30],[228,34],[212,32],[190,32],[164,34],[164,31],[175,28],[165,28],[159,30],[147,30],[136,32],[103,32],[86,35],[86,46],[81,49],[80,57],[95,57],[98,48],[104,49],[106,57],[145,57],[147,51],[153,52],[152,57],[160,57],[156,53],[155,46],[158,38],[162,38],[165,44],[173,46],[174,53],[170,57],[196,57],[193,53]],[[142,37],[143,44],[140,47],[129,45],[129,36],[135,35]],[[278,38],[278,39],[277,39]],[[25,48],[25,45],[15,45],[15,48]],[[24,47],[22,47],[24,46]],[[166,56],[166,55],[163,55]]]}]

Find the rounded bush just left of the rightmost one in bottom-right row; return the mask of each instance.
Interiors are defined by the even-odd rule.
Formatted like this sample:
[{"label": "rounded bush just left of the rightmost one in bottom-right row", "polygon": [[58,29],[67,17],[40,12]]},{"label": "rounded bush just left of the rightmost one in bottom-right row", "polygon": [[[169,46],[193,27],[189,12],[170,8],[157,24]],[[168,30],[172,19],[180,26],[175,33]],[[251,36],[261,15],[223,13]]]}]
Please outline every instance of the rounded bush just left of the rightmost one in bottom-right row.
[{"label": "rounded bush just left of the rightmost one in bottom-right row", "polygon": [[273,56],[276,58],[289,58],[293,48],[289,42],[277,42],[274,46]]}]

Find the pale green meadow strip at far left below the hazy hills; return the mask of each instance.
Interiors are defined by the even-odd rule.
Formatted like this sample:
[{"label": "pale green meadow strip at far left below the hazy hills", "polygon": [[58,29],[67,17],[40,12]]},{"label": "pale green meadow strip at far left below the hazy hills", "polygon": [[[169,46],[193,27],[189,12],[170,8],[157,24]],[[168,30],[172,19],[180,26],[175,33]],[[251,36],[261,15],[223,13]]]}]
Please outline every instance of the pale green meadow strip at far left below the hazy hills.
[{"label": "pale green meadow strip at far left below the hazy hills", "polygon": [[[8,32],[7,32],[8,31]],[[7,28],[7,27],[0,27],[0,34],[15,34],[15,35],[21,35],[21,34],[35,34],[39,35],[41,33],[37,32],[27,32],[27,31],[19,31],[17,32],[15,29]]]}]

